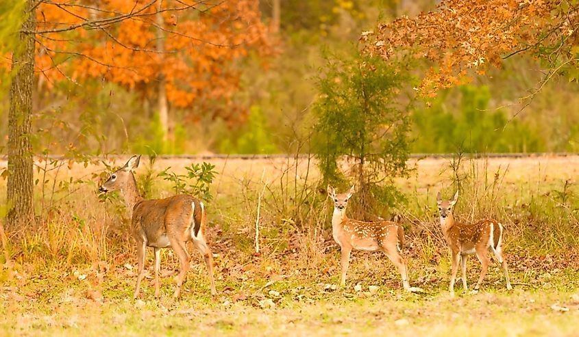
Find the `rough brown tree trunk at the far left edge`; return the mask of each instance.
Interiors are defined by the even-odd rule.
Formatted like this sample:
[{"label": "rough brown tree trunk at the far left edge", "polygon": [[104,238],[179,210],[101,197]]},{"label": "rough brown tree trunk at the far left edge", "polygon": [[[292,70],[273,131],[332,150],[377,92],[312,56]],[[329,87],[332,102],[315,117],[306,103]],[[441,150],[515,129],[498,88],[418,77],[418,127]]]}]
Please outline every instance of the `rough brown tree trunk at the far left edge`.
[{"label": "rough brown tree trunk at the far left edge", "polygon": [[[34,31],[34,0],[27,1],[22,29]],[[19,33],[19,50],[12,54],[12,83],[8,112],[8,211],[6,229],[18,230],[34,221],[32,135],[32,87],[34,86],[34,34]]]}]

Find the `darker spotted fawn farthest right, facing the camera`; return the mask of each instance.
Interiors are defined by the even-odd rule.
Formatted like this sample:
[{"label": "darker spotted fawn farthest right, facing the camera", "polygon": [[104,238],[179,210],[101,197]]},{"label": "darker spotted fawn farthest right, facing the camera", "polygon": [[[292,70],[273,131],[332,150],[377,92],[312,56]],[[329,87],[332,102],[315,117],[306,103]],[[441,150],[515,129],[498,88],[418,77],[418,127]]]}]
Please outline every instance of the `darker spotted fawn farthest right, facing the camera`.
[{"label": "darker spotted fawn farthest right, facing the camera", "polygon": [[454,281],[456,280],[456,272],[458,271],[458,258],[460,258],[460,267],[463,271],[463,287],[465,292],[467,288],[467,258],[471,254],[476,254],[476,257],[482,265],[480,277],[474,290],[478,291],[486,269],[489,268],[489,256],[487,252],[492,250],[497,258],[497,261],[502,264],[504,277],[506,278],[506,288],[508,290],[513,287],[510,286],[508,280],[508,270],[506,268],[506,261],[503,257],[503,226],[496,220],[485,219],[478,221],[476,224],[463,224],[454,221],[452,216],[452,207],[458,200],[458,191],[454,194],[454,198],[449,201],[443,201],[441,193],[436,196],[436,201],[439,205],[439,213],[441,219],[441,228],[450,248],[452,254],[452,275],[450,276],[450,295],[454,296]]}]

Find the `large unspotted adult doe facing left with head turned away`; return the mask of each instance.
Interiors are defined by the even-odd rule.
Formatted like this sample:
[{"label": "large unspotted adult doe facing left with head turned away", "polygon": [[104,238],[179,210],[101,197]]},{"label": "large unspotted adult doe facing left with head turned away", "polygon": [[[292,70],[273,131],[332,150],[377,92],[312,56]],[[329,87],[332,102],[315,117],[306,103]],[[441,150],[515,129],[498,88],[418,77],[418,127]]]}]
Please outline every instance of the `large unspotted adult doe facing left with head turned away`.
[{"label": "large unspotted adult doe facing left with head turned away", "polygon": [[147,247],[155,250],[155,297],[160,295],[161,248],[172,247],[177,253],[181,269],[174,297],[179,297],[181,284],[189,269],[189,254],[185,247],[187,241],[193,241],[193,245],[203,254],[211,282],[211,295],[217,295],[213,278],[213,256],[204,237],[207,215],[203,202],[186,194],[158,200],[143,199],[138,193],[132,172],[138,167],[139,161],[140,156],[133,156],[99,188],[102,192],[120,190],[125,198],[131,218],[131,234],[137,243],[138,276],[134,297],[138,297],[140,282],[145,276]]}]

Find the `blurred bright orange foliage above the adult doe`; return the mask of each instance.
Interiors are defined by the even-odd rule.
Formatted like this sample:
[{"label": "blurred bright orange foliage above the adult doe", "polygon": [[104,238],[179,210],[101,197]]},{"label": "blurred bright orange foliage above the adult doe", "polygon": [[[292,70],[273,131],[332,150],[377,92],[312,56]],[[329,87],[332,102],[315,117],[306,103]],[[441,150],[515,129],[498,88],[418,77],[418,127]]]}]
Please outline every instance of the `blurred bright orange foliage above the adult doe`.
[{"label": "blurred bright orange foliage above the adult doe", "polygon": [[[130,13],[142,7],[141,2],[80,1],[98,5],[99,10],[62,5],[70,3],[67,0],[42,3],[36,12],[37,29],[47,31],[83,23],[84,18],[95,20]],[[235,118],[230,115],[244,110],[232,107],[240,79],[236,62],[251,51],[260,55],[272,53],[258,0],[222,1],[214,7],[201,4],[174,10],[183,7],[183,3],[195,2],[162,2],[164,53],[157,52],[157,7],[152,5],[139,16],[102,29],[79,27],[38,34],[38,71],[49,81],[66,77],[73,81],[101,79],[147,96],[155,95],[162,74],[173,107],[189,108],[217,100],[224,107],[220,111],[223,117]]]}]

